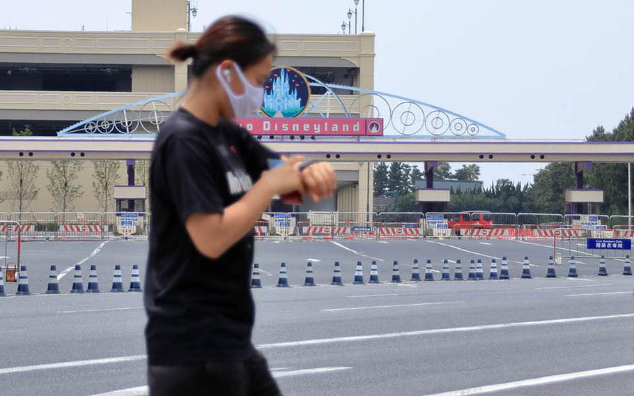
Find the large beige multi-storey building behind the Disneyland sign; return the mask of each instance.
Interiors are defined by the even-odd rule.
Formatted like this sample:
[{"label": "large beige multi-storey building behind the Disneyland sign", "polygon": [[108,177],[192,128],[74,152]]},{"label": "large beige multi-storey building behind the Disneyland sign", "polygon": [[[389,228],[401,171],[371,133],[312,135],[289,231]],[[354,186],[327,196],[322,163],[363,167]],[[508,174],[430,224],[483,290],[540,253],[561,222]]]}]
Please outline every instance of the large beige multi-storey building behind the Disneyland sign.
[{"label": "large beige multi-storey building behind the Disneyland sign", "polygon": [[[211,21],[218,15],[207,16]],[[200,17],[200,16],[199,16]],[[132,0],[132,31],[0,31],[0,135],[29,128],[36,136],[56,132],[101,112],[165,93],[185,91],[189,66],[172,63],[165,53],[177,42],[193,43],[199,32],[187,31],[187,1]],[[276,64],[293,66],[326,83],[373,89],[374,35],[272,35],[279,48]],[[319,87],[314,96],[325,93]],[[350,113],[367,104],[338,92]],[[175,100],[166,100],[174,105]],[[328,106],[328,108],[325,108]],[[320,110],[343,116],[322,103]],[[38,195],[24,211],[51,211],[47,189],[51,162],[38,161]],[[75,211],[101,211],[93,194],[93,163],[82,162],[83,195]],[[368,162],[337,164],[336,199],[295,210],[366,211],[372,207],[372,172]],[[127,185],[121,162],[117,184]],[[17,210],[6,162],[0,164],[0,211]],[[137,172],[137,184],[140,183]],[[15,182],[15,181],[14,181]],[[15,184],[15,183],[13,183]],[[114,200],[109,210],[114,209]]]}]

